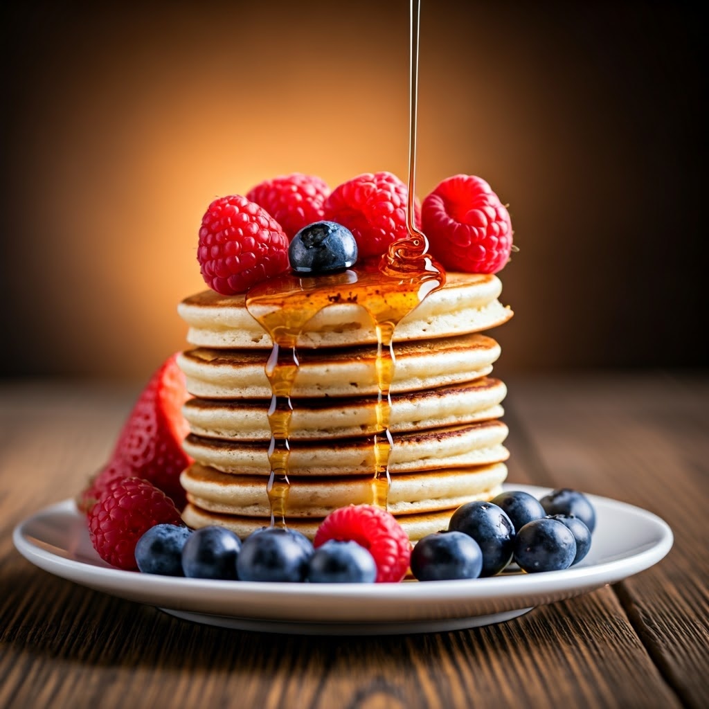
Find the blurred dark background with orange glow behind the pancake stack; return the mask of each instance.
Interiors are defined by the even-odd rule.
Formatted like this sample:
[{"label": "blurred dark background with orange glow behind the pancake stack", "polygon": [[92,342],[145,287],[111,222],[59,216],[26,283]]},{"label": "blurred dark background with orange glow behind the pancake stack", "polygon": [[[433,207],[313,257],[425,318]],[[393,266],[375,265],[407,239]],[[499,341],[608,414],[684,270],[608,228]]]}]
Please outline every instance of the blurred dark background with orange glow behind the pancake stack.
[{"label": "blurred dark background with orange glow behind the pancake stack", "polygon": [[[184,347],[216,196],[406,179],[408,7],[6,4],[0,376],[146,378]],[[496,374],[708,364],[702,26],[671,2],[423,0],[418,196],[483,177],[519,247]]]}]

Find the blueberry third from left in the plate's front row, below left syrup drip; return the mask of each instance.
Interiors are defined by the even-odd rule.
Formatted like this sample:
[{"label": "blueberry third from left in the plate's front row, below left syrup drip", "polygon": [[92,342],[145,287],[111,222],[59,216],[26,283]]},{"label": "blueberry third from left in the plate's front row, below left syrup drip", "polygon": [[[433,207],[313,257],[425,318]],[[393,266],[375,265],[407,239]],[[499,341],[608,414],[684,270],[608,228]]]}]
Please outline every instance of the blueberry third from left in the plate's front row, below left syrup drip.
[{"label": "blueberry third from left in the plate's front row, below left syrup drip", "polygon": [[[302,535],[301,535],[302,536]],[[304,581],[313,545],[306,546],[291,530],[267,527],[252,532],[237,561],[242,581]]]}]

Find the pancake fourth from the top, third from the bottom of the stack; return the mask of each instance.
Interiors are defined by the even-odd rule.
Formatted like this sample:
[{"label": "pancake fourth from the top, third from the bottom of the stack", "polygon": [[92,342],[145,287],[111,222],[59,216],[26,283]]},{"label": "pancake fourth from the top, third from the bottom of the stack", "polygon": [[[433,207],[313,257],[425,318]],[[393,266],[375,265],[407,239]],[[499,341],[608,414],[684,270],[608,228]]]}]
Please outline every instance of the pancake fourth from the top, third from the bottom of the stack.
[{"label": "pancake fourth from the top, third from the bottom of the stack", "polygon": [[[503,462],[509,452],[502,445],[507,426],[498,420],[448,426],[398,435],[389,455],[389,471],[413,472]],[[185,452],[203,465],[225,473],[270,474],[268,442],[236,442],[190,434]],[[291,441],[290,476],[357,476],[376,467],[372,441],[365,438]]]}]

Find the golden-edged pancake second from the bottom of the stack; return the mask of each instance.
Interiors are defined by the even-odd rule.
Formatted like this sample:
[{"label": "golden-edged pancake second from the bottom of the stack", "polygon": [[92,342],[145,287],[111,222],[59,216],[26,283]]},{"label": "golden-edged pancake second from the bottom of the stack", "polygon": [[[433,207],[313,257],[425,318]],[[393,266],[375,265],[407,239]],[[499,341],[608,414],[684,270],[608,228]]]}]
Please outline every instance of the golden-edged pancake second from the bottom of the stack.
[{"label": "golden-edged pancake second from the bottom of the stack", "polygon": [[[388,509],[393,515],[457,508],[497,490],[507,476],[503,463],[391,476]],[[374,503],[372,475],[299,477],[291,481],[287,518],[325,517],[347,505]],[[180,477],[189,501],[210,512],[267,518],[271,507],[261,476],[233,475],[193,464]]]}]

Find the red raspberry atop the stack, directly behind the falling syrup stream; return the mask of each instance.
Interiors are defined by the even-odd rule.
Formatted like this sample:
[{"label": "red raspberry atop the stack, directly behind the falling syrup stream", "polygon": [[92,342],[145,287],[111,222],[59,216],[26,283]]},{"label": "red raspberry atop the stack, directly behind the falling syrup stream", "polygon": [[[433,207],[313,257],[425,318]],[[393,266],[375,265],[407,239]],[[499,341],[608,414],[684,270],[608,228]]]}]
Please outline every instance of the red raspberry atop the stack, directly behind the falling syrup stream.
[{"label": "red raspberry atop the stack, directly behind the falling syrup stream", "polygon": [[[325,200],[325,219],[346,226],[357,240],[359,257],[381,256],[389,244],[408,237],[408,188],[391,172],[365,172],[333,190]],[[414,204],[414,223],[420,223]]]}]

